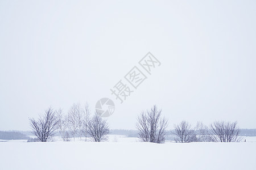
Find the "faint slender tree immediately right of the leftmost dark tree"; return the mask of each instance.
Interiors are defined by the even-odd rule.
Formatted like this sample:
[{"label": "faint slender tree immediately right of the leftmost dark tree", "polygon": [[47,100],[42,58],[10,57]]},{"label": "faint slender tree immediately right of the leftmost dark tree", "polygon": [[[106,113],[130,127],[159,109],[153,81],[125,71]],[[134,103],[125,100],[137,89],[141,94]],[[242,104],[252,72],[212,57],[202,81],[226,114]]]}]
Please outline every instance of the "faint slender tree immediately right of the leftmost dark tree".
[{"label": "faint slender tree immediately right of the leftmost dark tree", "polygon": [[69,141],[69,120],[68,120],[68,116],[64,115],[62,110],[59,109],[59,111],[56,112],[56,117],[57,117],[57,121],[58,121],[58,129],[59,129],[59,133],[61,135],[61,138],[63,139],[63,141]]}]

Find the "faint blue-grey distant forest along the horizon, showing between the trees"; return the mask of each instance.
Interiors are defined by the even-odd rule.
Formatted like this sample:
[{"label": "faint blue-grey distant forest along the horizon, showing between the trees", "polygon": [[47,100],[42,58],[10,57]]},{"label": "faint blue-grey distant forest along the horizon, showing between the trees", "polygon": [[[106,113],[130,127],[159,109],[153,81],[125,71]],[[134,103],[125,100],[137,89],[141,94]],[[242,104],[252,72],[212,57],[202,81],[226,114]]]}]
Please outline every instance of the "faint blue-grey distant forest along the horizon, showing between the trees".
[{"label": "faint blue-grey distant forest along the horizon, showing between the trees", "polygon": [[[256,129],[240,129],[240,136],[256,137]],[[112,129],[110,134],[125,135],[126,137],[138,137],[137,130]],[[172,135],[172,130],[167,131],[167,135]],[[2,140],[21,140],[30,139],[29,136],[34,135],[32,131],[0,131],[0,139]],[[56,134],[59,135],[59,134]]]}]

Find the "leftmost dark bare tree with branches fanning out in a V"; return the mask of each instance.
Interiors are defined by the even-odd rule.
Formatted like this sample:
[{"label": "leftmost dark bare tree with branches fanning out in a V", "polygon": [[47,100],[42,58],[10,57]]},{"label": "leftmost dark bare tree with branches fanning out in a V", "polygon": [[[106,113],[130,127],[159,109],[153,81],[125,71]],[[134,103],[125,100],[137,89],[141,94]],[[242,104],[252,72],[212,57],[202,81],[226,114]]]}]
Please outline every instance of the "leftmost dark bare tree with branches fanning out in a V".
[{"label": "leftmost dark bare tree with branches fanning out in a V", "polygon": [[55,134],[57,130],[57,118],[53,109],[46,110],[43,116],[39,116],[36,121],[34,118],[30,118],[30,125],[33,133],[41,142],[47,142]]}]

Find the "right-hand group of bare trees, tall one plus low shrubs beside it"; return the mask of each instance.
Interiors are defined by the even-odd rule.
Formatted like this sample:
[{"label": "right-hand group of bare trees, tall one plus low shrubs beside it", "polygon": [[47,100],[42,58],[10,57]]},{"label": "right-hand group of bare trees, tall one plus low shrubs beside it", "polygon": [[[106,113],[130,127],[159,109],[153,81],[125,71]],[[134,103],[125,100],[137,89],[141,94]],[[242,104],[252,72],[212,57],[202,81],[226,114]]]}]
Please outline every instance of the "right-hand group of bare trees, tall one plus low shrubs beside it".
[{"label": "right-hand group of bare trees, tall one plus low shrubs beside it", "polygon": [[[161,117],[162,110],[154,105],[150,110],[143,111],[137,118],[138,137],[143,142],[164,143],[168,120]],[[195,128],[187,121],[174,125],[174,140],[187,142],[240,142],[240,129],[237,122],[215,121],[208,126],[197,122]]]}]

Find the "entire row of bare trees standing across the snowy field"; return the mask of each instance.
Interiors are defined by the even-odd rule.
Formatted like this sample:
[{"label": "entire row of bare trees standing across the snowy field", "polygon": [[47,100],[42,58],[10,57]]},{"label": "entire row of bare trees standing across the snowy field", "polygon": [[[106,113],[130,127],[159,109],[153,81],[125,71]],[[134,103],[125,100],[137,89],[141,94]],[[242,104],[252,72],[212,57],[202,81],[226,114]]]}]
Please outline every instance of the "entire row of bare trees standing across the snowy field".
[{"label": "entire row of bare trees standing across the snowy field", "polygon": [[[110,133],[108,122],[97,113],[90,114],[89,105],[73,104],[67,114],[62,109],[58,111],[48,108],[38,120],[30,118],[30,125],[38,141],[51,141],[59,131],[63,141],[85,137],[85,141],[102,142],[108,140]],[[164,143],[167,135],[167,118],[162,116],[162,110],[154,105],[151,109],[142,111],[137,117],[136,128],[138,138],[142,142]],[[174,125],[172,134],[175,142],[240,142],[240,129],[237,122],[215,121],[210,126],[197,122],[195,128],[187,121]]]}]

